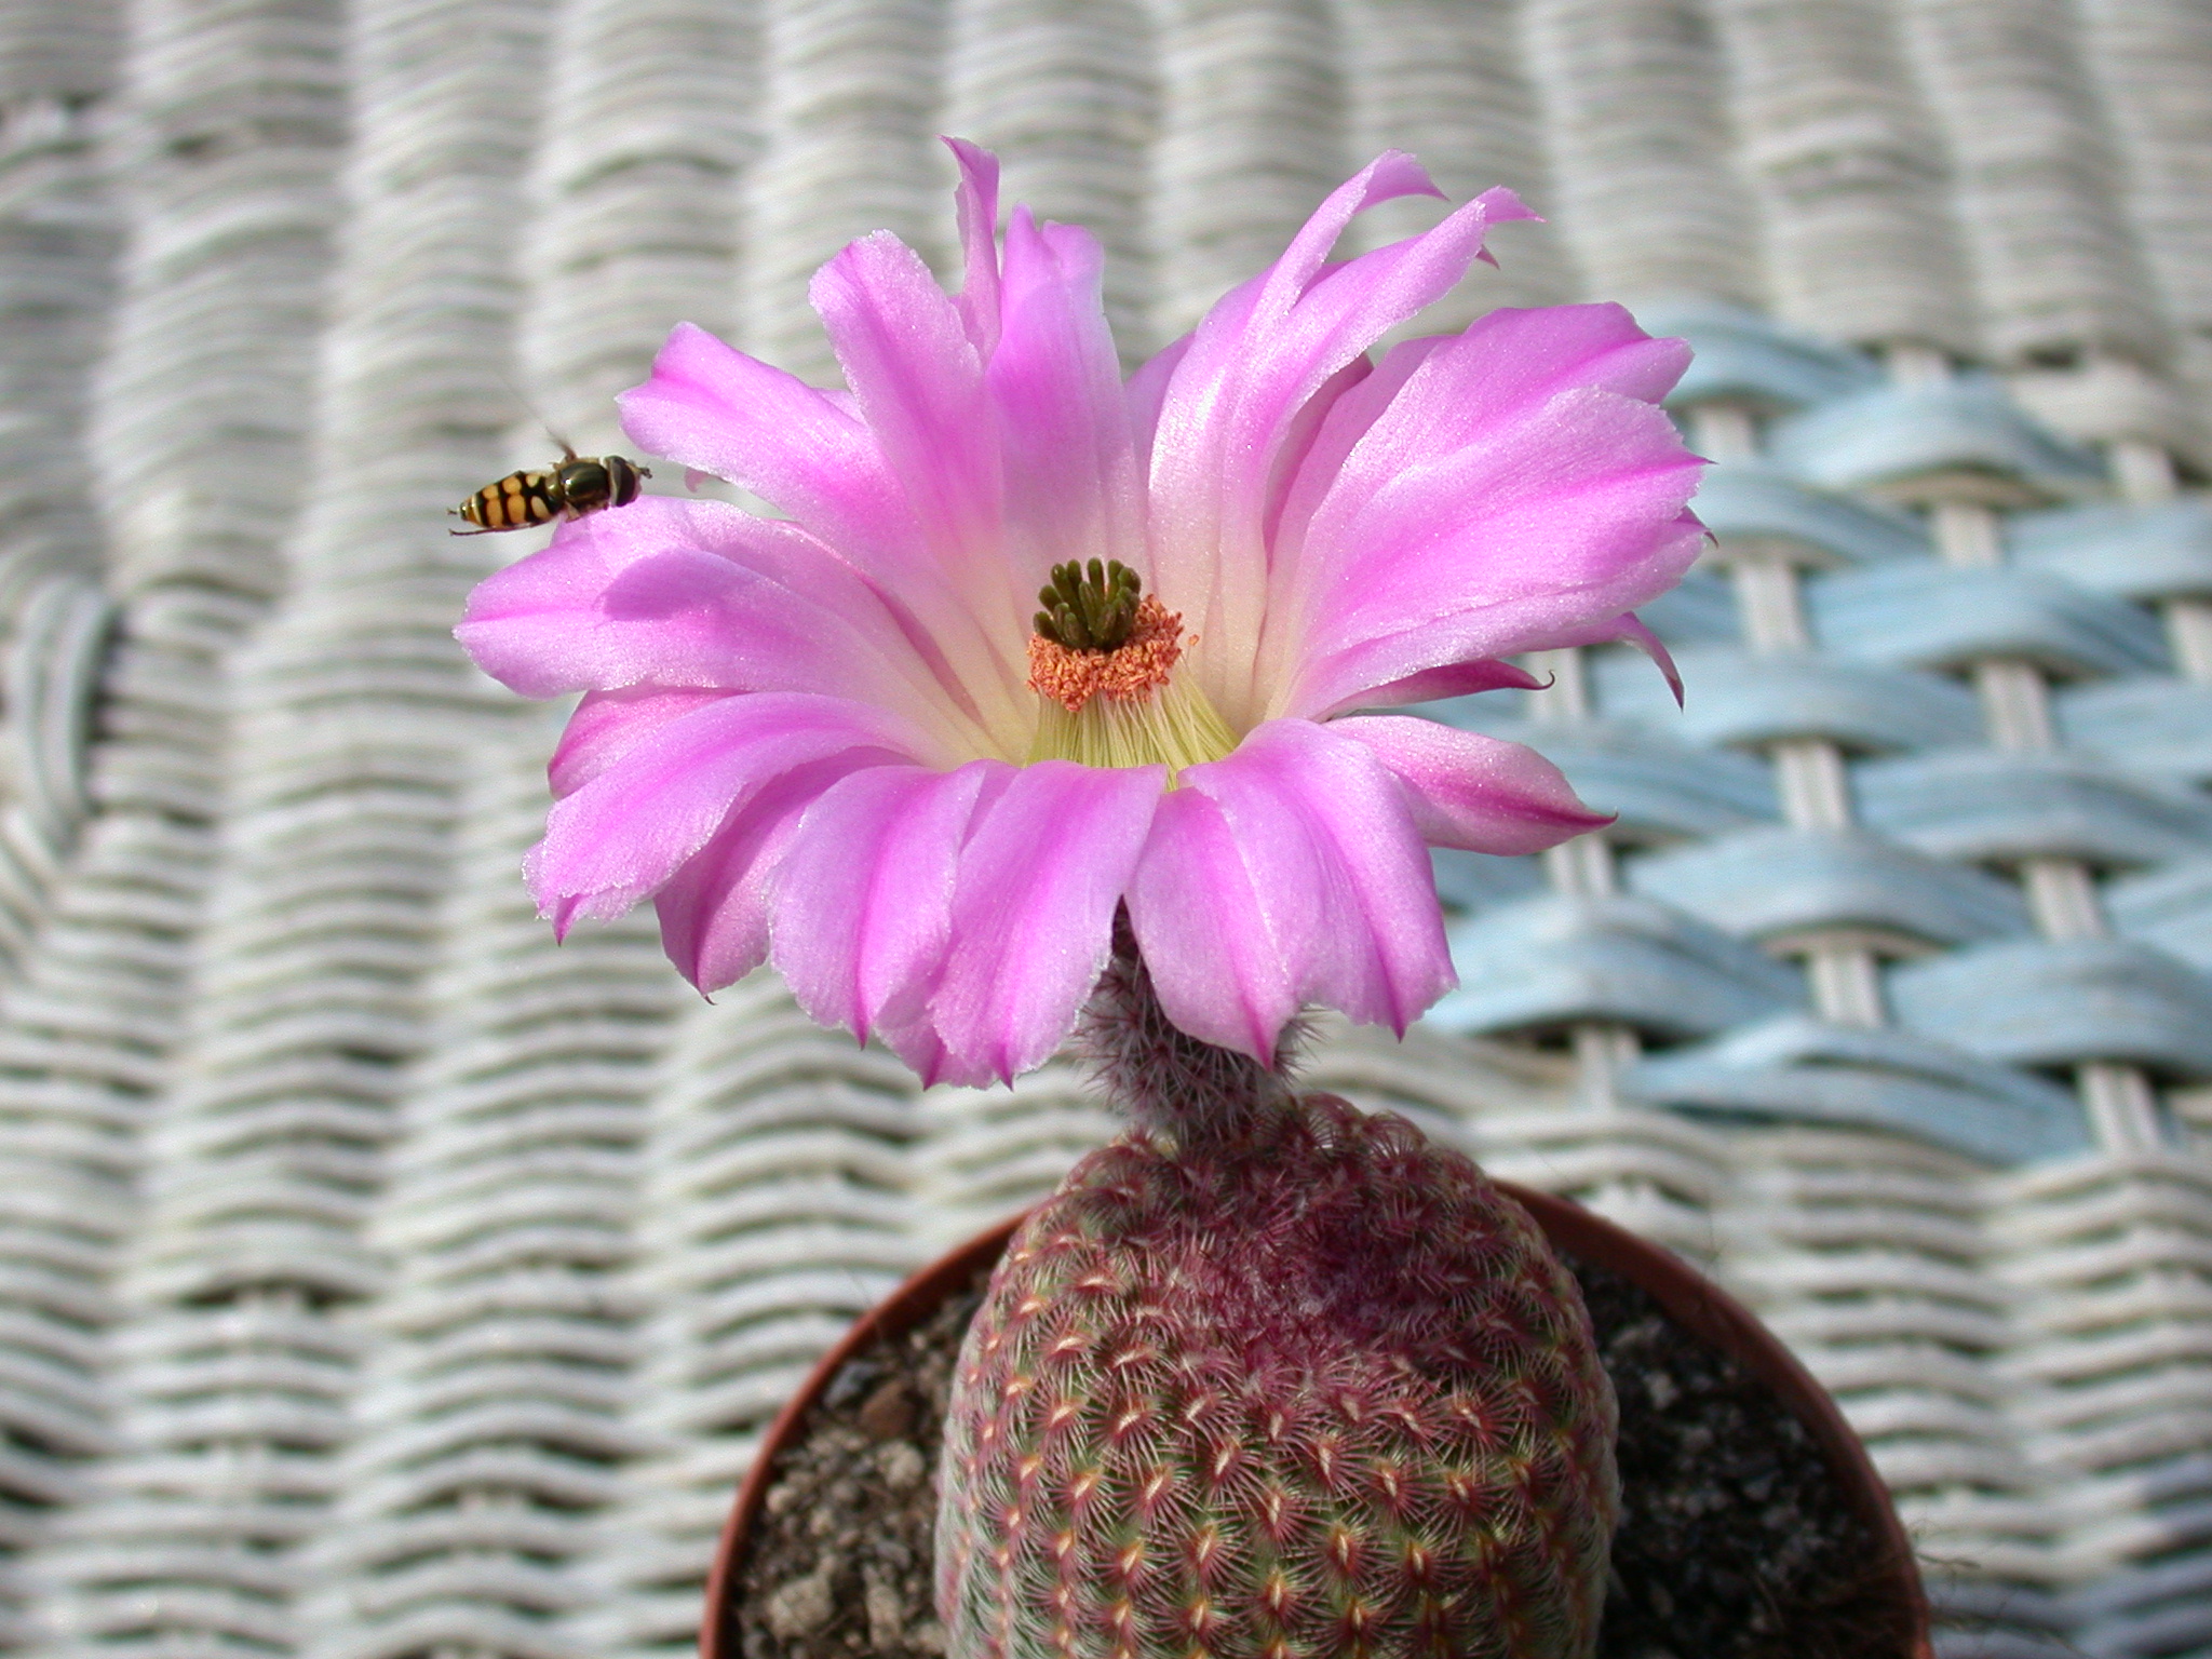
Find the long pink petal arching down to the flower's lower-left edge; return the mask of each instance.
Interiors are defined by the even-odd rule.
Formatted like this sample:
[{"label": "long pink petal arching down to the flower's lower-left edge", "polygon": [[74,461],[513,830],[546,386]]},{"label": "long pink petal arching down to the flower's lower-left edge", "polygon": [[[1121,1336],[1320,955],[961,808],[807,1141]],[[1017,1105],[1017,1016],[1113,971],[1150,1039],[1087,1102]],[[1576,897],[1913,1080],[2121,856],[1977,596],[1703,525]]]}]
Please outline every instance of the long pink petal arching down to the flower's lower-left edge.
[{"label": "long pink petal arching down to the flower's lower-left edge", "polygon": [[571,914],[619,916],[785,772],[838,757],[909,761],[909,748],[905,721],[865,703],[721,697],[666,721],[564,796],[524,874],[546,911],[573,900]]}]

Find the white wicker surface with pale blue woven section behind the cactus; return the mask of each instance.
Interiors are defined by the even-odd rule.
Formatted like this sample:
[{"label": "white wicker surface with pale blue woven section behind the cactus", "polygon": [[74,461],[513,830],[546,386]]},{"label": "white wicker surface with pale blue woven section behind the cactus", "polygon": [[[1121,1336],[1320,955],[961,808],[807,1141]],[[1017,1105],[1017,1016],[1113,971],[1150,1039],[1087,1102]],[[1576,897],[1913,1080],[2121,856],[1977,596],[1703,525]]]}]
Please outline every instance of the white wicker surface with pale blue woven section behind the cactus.
[{"label": "white wicker surface with pale blue woven section behind the cactus", "polygon": [[1947,1655],[2212,1652],[2205,0],[0,0],[0,1646],[681,1650],[810,1358],[1108,1130],[555,951],[557,712],[449,639],[529,409],[827,376],[938,131],[1133,358],[1387,144],[1548,217],[1442,323],[1697,341],[1688,714],[1438,710],[1621,821],[1316,1073],[1761,1305]]}]

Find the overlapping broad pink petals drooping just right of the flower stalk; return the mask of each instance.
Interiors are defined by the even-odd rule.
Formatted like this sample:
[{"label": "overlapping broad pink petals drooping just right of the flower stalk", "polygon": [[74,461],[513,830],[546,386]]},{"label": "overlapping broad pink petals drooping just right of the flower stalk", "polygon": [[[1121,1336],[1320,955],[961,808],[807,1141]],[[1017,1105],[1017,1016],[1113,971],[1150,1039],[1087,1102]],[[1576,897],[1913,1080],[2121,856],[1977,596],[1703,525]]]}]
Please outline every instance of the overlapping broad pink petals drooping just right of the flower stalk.
[{"label": "overlapping broad pink petals drooping just right of the flower stalk", "polygon": [[[1398,779],[1334,728],[1270,721],[1186,768],[1130,885],[1161,1006],[1186,1031],[1270,1055],[1285,1009],[1405,1026],[1453,984],[1429,854]],[[1243,880],[1232,865],[1243,865]],[[1208,891],[1217,902],[1201,902]]]}]

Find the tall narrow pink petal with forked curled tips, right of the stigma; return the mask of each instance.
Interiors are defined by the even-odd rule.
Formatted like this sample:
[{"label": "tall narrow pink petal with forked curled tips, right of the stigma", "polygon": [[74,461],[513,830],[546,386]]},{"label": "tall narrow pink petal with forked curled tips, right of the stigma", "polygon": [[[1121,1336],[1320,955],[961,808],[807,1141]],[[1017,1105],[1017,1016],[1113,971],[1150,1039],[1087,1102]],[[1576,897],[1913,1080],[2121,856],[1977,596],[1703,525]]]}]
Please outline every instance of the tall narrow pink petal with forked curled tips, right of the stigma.
[{"label": "tall narrow pink petal with forked curled tips, right of the stigma", "polygon": [[1199,633],[1194,668],[1230,721],[1252,712],[1252,655],[1267,593],[1265,520],[1303,405],[1391,327],[1442,296],[1486,228],[1524,219],[1491,190],[1433,230],[1325,265],[1360,208],[1436,192],[1411,157],[1387,153],[1340,186],[1265,276],[1199,323],[1177,365],[1152,447],[1152,549],[1161,599]]}]

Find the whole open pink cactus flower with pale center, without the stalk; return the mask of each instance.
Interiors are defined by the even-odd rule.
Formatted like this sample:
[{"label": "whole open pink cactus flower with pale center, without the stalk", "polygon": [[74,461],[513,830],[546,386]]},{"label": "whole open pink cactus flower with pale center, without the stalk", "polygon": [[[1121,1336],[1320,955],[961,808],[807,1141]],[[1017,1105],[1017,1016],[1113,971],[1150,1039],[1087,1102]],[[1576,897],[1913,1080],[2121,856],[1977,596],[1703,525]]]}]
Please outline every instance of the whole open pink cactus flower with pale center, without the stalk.
[{"label": "whole open pink cactus flower with pale center, without the stalk", "polygon": [[701,991],[774,960],[925,1079],[1046,1060],[1121,905],[1208,1044],[1272,1060],[1310,1004],[1402,1031],[1453,984],[1427,845],[1604,818],[1522,745],[1371,710],[1650,646],[1630,613],[1703,535],[1657,407],[1688,349],[1559,305],[1369,361],[1533,217],[1491,190],[1332,261],[1438,195],[1387,153],[1124,385],[1097,241],[1018,208],[998,246],[998,164],[953,153],[956,296],[889,232],[814,279],[849,392],[684,325],[622,398],[641,449],[781,518],[646,498],[471,597],[487,672],[584,692],[546,916],[655,898]]}]

